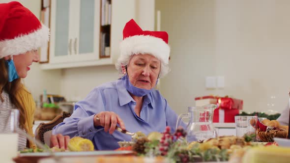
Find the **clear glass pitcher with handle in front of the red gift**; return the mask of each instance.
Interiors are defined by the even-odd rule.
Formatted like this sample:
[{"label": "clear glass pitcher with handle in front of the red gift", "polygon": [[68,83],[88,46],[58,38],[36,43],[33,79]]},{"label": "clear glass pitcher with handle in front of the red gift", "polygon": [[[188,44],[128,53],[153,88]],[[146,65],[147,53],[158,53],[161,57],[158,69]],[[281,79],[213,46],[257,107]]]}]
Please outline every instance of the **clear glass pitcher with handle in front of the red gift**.
[{"label": "clear glass pitcher with handle in front of the red gift", "polygon": [[176,129],[181,125],[183,118],[189,118],[188,125],[186,126],[186,140],[191,141],[203,141],[208,138],[217,137],[212,119],[213,110],[217,108],[217,105],[206,105],[203,107],[188,107],[188,113],[183,113],[178,116]]}]

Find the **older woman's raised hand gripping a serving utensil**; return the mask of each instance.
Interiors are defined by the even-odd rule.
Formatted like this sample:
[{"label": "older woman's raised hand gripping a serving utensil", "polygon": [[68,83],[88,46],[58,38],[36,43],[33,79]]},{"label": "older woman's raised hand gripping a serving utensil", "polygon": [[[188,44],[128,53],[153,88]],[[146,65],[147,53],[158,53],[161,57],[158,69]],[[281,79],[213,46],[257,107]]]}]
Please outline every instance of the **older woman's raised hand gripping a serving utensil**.
[{"label": "older woman's raised hand gripping a serving utensil", "polygon": [[110,134],[114,133],[117,124],[126,130],[123,120],[113,111],[102,111],[94,116],[94,126],[103,126],[105,132],[109,131]]}]

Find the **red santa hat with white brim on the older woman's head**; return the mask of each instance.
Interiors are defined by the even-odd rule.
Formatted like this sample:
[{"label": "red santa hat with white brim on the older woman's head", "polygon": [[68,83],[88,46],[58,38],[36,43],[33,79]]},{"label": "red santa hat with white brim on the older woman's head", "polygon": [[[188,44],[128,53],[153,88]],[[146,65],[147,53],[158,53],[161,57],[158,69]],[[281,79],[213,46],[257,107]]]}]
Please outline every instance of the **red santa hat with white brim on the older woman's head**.
[{"label": "red santa hat with white brim on the older woman's head", "polygon": [[[160,76],[169,72],[168,34],[165,31],[142,30],[138,24],[131,19],[123,29],[123,41],[120,43],[120,56],[118,61],[126,60],[134,54],[151,54],[161,61]],[[116,64],[116,68],[119,63]]]}]

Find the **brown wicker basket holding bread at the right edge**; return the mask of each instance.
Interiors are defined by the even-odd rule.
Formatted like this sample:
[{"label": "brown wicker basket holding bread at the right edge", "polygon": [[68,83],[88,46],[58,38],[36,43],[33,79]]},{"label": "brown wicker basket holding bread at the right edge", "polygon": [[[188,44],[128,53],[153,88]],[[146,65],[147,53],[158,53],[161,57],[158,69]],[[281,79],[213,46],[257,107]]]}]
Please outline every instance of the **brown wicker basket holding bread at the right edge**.
[{"label": "brown wicker basket holding bread at the right edge", "polygon": [[288,136],[288,132],[280,130],[261,131],[257,129],[257,135],[262,142],[272,142],[274,141],[274,137],[286,138]]}]

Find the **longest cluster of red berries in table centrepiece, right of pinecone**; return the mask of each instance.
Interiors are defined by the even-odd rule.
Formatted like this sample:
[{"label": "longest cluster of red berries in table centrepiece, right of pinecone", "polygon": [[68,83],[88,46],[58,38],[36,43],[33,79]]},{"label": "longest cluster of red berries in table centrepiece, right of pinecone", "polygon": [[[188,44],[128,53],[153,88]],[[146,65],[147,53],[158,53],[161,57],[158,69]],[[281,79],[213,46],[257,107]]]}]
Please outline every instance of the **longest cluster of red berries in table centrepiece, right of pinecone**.
[{"label": "longest cluster of red berries in table centrepiece, right of pinecone", "polygon": [[170,127],[167,126],[159,143],[159,151],[162,156],[167,155],[170,145],[173,143],[173,135],[170,133]]}]

